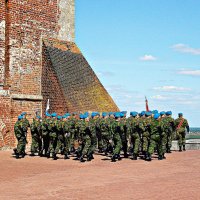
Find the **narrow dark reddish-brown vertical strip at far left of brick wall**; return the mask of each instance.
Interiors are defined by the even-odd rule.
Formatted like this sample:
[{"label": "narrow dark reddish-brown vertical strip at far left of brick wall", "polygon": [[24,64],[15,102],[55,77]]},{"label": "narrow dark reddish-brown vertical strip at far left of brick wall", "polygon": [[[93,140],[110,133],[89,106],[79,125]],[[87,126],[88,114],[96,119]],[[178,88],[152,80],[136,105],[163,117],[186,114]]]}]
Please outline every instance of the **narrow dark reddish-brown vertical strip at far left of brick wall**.
[{"label": "narrow dark reddish-brown vertical strip at far left of brick wall", "polygon": [[[10,37],[9,37],[9,27],[10,27],[10,14],[9,14],[9,0],[5,0],[5,71],[4,71],[4,87],[9,88],[9,62],[10,62]],[[8,87],[8,88],[7,88]]]}]

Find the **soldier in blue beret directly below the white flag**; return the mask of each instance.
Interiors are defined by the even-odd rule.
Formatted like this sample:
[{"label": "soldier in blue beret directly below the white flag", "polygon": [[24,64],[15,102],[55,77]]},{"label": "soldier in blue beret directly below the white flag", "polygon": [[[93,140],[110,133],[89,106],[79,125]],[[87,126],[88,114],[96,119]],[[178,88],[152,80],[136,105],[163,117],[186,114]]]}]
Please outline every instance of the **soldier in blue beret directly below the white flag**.
[{"label": "soldier in blue beret directly below the white flag", "polygon": [[42,129],[42,155],[44,151],[44,156],[48,156],[48,149],[49,149],[49,122],[51,118],[51,114],[45,114],[46,118],[42,120],[41,129]]}]

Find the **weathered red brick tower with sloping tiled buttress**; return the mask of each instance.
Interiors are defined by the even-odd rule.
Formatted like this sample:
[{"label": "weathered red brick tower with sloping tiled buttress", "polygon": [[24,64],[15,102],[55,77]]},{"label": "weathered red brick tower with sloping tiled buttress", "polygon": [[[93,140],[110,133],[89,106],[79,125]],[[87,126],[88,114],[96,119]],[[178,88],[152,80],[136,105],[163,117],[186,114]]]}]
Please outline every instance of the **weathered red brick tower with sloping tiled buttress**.
[{"label": "weathered red brick tower with sloping tiled buttress", "polygon": [[0,148],[21,112],[118,111],[74,43],[74,0],[0,0]]}]

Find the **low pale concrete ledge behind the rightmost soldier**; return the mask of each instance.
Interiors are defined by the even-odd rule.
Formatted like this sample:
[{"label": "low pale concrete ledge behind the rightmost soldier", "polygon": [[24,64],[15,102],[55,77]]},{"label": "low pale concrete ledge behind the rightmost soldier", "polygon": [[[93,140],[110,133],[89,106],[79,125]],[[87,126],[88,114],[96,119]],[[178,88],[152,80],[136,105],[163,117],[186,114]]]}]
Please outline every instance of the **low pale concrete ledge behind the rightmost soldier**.
[{"label": "low pale concrete ledge behind the rightmost soldier", "polygon": [[[186,150],[200,150],[200,139],[186,140]],[[178,141],[172,141],[171,150],[178,151]]]}]

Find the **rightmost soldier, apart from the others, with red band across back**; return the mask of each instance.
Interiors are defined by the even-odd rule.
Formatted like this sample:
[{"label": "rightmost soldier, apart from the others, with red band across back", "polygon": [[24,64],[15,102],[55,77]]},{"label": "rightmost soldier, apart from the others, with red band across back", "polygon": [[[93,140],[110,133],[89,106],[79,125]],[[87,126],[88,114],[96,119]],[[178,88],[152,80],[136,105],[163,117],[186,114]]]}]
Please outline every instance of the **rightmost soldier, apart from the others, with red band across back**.
[{"label": "rightmost soldier, apart from the others, with red band across back", "polygon": [[183,118],[183,113],[178,114],[178,119],[175,120],[176,125],[176,134],[178,139],[178,145],[179,145],[179,151],[185,151],[185,135],[186,135],[186,129],[187,132],[190,132],[189,124],[186,119]]}]

